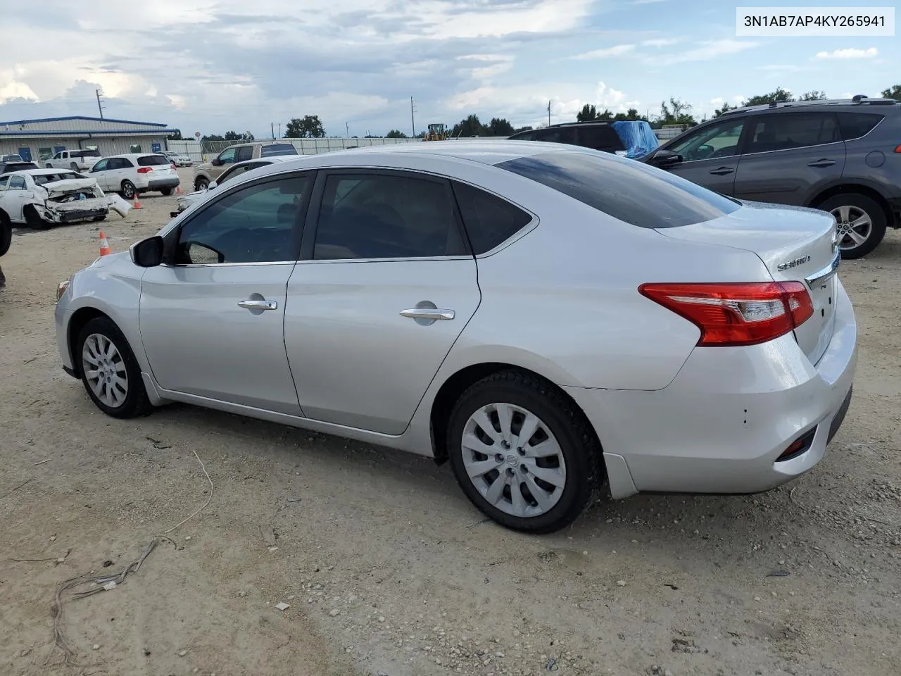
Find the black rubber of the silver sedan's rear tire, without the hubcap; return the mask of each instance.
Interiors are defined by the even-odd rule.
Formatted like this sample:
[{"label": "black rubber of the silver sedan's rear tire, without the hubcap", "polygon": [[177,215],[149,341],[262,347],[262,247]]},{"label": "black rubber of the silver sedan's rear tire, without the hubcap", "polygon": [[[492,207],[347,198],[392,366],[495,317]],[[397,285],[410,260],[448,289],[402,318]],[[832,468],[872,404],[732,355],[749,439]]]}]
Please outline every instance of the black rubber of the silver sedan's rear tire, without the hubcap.
[{"label": "black rubber of the silver sedan's rear tire, without the hubcap", "polygon": [[[522,407],[538,416],[560,444],[566,463],[565,484],[557,503],[539,516],[514,516],[495,507],[469,479],[463,459],[464,428],[469,416],[495,403]],[[599,496],[604,483],[603,453],[585,416],[551,383],[520,370],[499,371],[479,380],[460,396],[451,411],[447,448],[451,468],[467,498],[498,524],[517,531],[546,534],[571,524]],[[510,452],[509,457],[512,456]]]}]

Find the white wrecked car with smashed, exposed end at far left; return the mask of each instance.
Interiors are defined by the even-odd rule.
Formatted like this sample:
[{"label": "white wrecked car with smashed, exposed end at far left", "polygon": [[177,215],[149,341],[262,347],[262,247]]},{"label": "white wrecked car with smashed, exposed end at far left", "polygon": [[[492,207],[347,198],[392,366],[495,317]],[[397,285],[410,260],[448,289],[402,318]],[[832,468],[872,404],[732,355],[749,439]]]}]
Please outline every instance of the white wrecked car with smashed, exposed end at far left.
[{"label": "white wrecked car with smashed, exposed end at far left", "polygon": [[67,169],[25,169],[0,176],[0,226],[44,229],[56,224],[102,221],[131,205],[105,195],[94,178]]}]

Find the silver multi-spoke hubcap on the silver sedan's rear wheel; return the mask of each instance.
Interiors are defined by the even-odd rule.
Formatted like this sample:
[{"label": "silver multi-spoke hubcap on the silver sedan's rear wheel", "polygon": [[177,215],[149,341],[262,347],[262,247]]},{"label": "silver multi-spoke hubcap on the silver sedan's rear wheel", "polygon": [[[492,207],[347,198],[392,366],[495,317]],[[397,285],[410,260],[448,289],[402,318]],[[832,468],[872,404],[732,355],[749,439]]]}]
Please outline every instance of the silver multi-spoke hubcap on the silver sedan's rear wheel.
[{"label": "silver multi-spoke hubcap on the silver sedan's rear wheel", "polygon": [[560,500],[566,461],[541,418],[514,404],[481,407],[463,427],[463,466],[489,503],[512,516],[541,516]]}]

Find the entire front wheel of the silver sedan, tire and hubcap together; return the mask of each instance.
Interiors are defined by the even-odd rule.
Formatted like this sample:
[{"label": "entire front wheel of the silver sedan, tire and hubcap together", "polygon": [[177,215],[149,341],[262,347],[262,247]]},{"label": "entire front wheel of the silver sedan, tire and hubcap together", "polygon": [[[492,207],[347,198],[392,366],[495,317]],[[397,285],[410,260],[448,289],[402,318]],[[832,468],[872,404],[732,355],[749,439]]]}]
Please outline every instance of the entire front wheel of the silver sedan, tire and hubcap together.
[{"label": "entire front wheel of the silver sedan, tire and hubcap together", "polygon": [[[109,353],[109,345],[113,346],[112,357],[105,357],[100,352]],[[99,355],[99,356],[98,356]],[[81,371],[81,382],[85,386],[88,397],[96,407],[107,416],[114,418],[132,418],[146,416],[153,407],[147,398],[144,381],[141,379],[141,367],[134,352],[125,339],[124,334],[109,317],[95,317],[78,333],[72,358],[78,360]],[[92,363],[92,360],[94,363]],[[97,380],[99,375],[106,382]],[[91,378],[88,375],[91,374]],[[124,386],[116,386],[115,378],[123,379]],[[111,385],[112,383],[112,385]]]}]

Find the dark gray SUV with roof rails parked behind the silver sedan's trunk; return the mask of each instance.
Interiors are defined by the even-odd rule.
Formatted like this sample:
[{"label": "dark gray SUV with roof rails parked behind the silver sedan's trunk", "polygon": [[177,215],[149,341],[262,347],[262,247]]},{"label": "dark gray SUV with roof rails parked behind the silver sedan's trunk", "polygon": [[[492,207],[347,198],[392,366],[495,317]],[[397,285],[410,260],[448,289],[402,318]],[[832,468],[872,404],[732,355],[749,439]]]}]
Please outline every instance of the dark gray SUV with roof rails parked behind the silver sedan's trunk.
[{"label": "dark gray SUV with roof rails parked behind the silver sedan's trunk", "polygon": [[842,258],[901,227],[901,104],[854,96],[755,105],[692,127],[643,158],[724,195],[835,216]]}]

